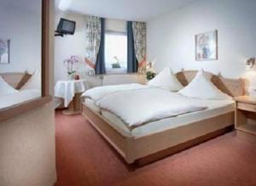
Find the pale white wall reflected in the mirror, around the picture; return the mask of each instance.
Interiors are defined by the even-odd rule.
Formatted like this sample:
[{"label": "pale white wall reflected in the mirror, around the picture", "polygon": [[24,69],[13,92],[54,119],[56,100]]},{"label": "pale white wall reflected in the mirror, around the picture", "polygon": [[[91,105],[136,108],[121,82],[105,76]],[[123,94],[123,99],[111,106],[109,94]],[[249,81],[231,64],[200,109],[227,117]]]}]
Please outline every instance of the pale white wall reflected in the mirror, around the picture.
[{"label": "pale white wall reflected in the mirror, around the picture", "polygon": [[0,73],[41,69],[41,15],[0,6],[0,38],[10,39],[10,63]]}]

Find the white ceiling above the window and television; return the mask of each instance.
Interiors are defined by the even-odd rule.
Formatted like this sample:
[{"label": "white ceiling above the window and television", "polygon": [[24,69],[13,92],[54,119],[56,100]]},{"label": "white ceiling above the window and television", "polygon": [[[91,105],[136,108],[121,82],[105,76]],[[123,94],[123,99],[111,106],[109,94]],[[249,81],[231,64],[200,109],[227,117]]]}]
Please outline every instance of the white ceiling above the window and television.
[{"label": "white ceiling above the window and television", "polygon": [[192,2],[195,0],[55,0],[55,7],[84,15],[146,21]]}]

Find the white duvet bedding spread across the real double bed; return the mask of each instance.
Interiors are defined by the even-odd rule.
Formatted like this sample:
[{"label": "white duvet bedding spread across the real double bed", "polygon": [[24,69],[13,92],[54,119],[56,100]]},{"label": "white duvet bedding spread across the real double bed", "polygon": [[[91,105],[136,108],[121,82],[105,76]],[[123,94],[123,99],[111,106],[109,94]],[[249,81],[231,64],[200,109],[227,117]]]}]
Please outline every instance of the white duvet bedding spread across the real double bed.
[{"label": "white duvet bedding spread across the real double bed", "polygon": [[116,90],[118,87],[98,87],[86,91],[84,96],[93,99],[97,107],[117,115],[129,127],[207,108],[169,90],[140,84],[123,85],[123,90]]}]

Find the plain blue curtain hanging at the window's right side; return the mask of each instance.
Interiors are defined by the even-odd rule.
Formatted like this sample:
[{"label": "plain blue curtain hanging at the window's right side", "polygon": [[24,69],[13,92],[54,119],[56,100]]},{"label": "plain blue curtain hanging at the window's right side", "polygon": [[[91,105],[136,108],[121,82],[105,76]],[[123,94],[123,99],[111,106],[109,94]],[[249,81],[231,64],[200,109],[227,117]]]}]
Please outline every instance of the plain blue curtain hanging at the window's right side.
[{"label": "plain blue curtain hanging at the window's right side", "polygon": [[134,47],[134,38],[132,31],[132,22],[127,22],[127,73],[137,73],[137,57]]}]

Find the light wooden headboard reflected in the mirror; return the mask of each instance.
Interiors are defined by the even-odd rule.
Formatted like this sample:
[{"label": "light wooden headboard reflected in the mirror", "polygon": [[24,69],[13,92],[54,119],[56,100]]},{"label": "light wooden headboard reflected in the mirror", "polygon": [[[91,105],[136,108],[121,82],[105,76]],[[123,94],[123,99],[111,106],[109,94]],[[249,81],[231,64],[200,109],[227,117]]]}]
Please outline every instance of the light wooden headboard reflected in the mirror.
[{"label": "light wooden headboard reflected in the mirror", "polygon": [[32,77],[32,74],[29,73],[0,73],[0,75],[16,90],[20,90],[28,79]]}]

